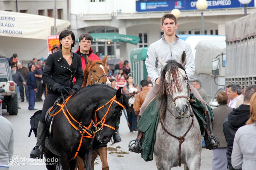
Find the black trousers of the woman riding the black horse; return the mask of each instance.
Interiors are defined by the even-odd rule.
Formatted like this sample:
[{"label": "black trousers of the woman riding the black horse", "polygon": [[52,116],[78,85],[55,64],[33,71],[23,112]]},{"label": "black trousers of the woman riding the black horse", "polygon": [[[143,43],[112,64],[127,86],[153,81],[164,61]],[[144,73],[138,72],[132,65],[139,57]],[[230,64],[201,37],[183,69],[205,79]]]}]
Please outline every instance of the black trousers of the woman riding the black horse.
[{"label": "black trousers of the woman riding the black horse", "polygon": [[40,122],[42,122],[42,123],[45,122],[46,112],[48,111],[48,109],[50,109],[53,106],[54,102],[57,100],[57,98],[59,96],[61,96],[60,93],[55,93],[54,91],[48,89],[47,95],[44,99],[44,104],[43,104],[43,109],[42,109]]}]

